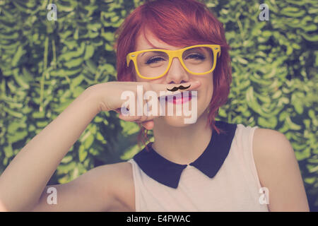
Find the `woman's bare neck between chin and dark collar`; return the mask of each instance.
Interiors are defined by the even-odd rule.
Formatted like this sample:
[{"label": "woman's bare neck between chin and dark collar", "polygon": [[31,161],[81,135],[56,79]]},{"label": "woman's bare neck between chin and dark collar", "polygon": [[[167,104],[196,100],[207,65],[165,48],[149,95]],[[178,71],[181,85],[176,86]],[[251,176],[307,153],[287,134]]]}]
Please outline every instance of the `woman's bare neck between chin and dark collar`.
[{"label": "woman's bare neck between chin and dark collar", "polygon": [[[162,119],[163,120],[163,119]],[[206,126],[208,120],[206,112],[195,124],[185,127],[175,127],[163,121],[155,121],[153,127],[153,149],[171,162],[187,165],[194,162],[211,141],[211,126]]]}]

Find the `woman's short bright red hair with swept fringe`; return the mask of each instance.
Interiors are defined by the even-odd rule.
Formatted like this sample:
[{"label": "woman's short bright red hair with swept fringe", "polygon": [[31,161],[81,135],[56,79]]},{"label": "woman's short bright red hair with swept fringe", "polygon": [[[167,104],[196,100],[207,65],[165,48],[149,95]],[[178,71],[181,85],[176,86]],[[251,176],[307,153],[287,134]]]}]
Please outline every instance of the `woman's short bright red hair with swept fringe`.
[{"label": "woman's short bright red hair with swept fringe", "polygon": [[[149,30],[159,40],[175,47],[194,44],[219,44],[220,58],[213,71],[213,97],[208,105],[208,121],[213,131],[223,132],[215,125],[218,109],[228,100],[232,72],[230,46],[225,40],[223,24],[213,16],[204,3],[195,0],[146,1],[132,11],[116,30],[114,49],[117,52],[117,80],[136,81],[134,65],[126,66],[126,55],[136,51],[136,39]],[[138,141],[146,145],[148,130],[139,124]],[[139,147],[141,145],[139,144]]]}]

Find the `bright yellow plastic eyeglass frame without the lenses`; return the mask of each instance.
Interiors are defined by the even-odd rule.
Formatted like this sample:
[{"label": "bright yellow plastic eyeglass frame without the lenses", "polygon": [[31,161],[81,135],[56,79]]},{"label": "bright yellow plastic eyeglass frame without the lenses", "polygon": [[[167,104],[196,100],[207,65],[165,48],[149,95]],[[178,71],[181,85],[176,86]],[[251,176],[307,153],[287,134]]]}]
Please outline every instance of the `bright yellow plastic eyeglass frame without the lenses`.
[{"label": "bright yellow plastic eyeglass frame without the lenses", "polygon": [[[183,54],[183,52],[186,51],[187,49],[192,49],[192,48],[195,48],[195,47],[209,47],[210,49],[212,49],[212,51],[213,51],[213,66],[212,66],[212,69],[210,69],[209,71],[204,72],[204,73],[195,73],[195,72],[189,71],[189,69],[187,69],[187,67],[184,65],[184,62],[183,62],[183,59],[182,59],[182,54]],[[168,65],[167,65],[167,69],[165,70],[165,72],[163,72],[163,74],[161,74],[160,76],[157,76],[157,77],[145,77],[145,76],[141,76],[141,73],[139,72],[139,69],[138,69],[137,57],[138,57],[139,54],[141,54],[141,53],[143,53],[143,52],[153,52],[153,51],[164,52],[165,54],[168,55],[169,62],[168,62]],[[144,50],[141,50],[141,51],[131,52],[131,53],[127,54],[127,56],[126,56],[126,64],[127,64],[127,67],[128,67],[130,61],[133,61],[133,62],[134,62],[135,69],[136,69],[136,72],[137,72],[137,75],[138,75],[140,78],[153,80],[153,79],[157,79],[157,78],[161,78],[161,77],[165,76],[165,74],[167,73],[167,71],[169,71],[169,69],[170,69],[170,66],[171,66],[171,64],[172,64],[172,59],[174,59],[175,57],[177,57],[177,58],[179,59],[180,63],[182,64],[183,68],[184,68],[188,73],[192,73],[192,74],[194,74],[195,76],[201,76],[201,75],[204,75],[204,74],[206,74],[206,73],[211,73],[212,71],[214,71],[214,69],[216,69],[216,59],[217,59],[217,57],[220,57],[220,52],[221,52],[221,49],[220,49],[220,45],[219,45],[219,44],[196,44],[196,45],[192,45],[192,46],[185,47],[185,48],[183,48],[183,49],[177,49],[177,50],[144,49]]]}]

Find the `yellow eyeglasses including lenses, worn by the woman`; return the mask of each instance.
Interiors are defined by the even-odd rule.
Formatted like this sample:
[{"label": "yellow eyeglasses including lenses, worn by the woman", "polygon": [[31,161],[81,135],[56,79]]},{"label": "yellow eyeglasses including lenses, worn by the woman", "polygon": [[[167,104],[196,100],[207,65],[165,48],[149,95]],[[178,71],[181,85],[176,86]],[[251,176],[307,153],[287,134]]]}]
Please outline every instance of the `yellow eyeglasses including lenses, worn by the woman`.
[{"label": "yellow eyeglasses including lenses, worn by the woman", "polygon": [[220,45],[196,44],[177,50],[146,49],[127,54],[126,62],[134,62],[139,77],[157,79],[165,76],[172,59],[177,57],[184,69],[196,76],[211,73],[216,68],[216,58],[220,57]]}]

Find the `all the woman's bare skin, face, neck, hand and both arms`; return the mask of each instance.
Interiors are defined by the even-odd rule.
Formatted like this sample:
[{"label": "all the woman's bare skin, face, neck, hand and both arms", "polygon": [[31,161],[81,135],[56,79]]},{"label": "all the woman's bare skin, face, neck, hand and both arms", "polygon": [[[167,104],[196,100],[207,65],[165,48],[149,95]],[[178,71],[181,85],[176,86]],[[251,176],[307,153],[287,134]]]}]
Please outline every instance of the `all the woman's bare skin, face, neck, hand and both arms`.
[{"label": "all the woman's bare skin, face, neck, hand and both arms", "polygon": [[[150,39],[156,47],[179,49]],[[145,49],[148,42],[139,37],[136,50]],[[196,160],[211,138],[206,129],[206,107],[213,95],[213,74],[192,76],[174,59],[163,78],[145,83],[144,91],[173,88],[191,83],[198,90],[198,120],[183,124],[183,117],[124,117],[126,121],[142,122],[153,129],[153,148],[172,162],[187,164]],[[199,83],[194,83],[199,81]],[[57,205],[47,204],[46,186],[57,166],[90,121],[101,111],[118,111],[124,90],[136,92],[136,82],[110,82],[93,85],[74,100],[57,119],[33,138],[0,176],[0,210],[2,211],[135,211],[134,179],[131,164],[120,162],[90,169],[57,189]],[[171,137],[173,137],[173,142]],[[166,145],[166,144],[170,145]],[[190,151],[191,150],[191,151]],[[271,211],[308,211],[305,189],[293,148],[282,133],[257,129],[253,153],[262,186],[269,189]],[[36,175],[36,177],[35,177]]]}]

